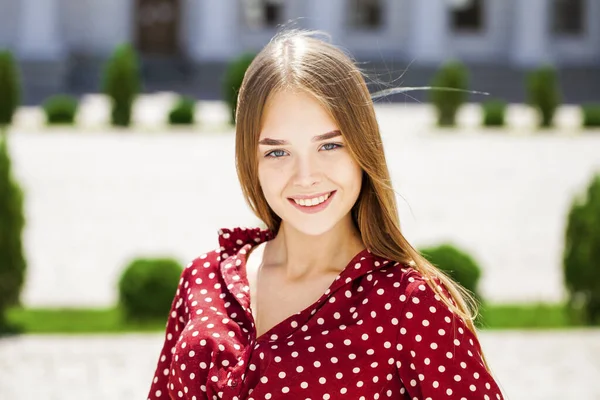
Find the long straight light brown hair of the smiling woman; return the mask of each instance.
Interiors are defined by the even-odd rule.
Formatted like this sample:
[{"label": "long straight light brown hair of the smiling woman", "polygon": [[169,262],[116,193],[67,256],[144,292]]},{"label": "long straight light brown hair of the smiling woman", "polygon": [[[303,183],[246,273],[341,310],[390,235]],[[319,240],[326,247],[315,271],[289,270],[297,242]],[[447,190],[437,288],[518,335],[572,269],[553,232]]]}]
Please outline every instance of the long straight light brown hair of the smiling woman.
[{"label": "long straight light brown hair of the smiling woman", "polygon": [[[281,219],[269,207],[258,180],[256,154],[262,116],[269,97],[276,91],[309,93],[335,121],[363,170],[361,192],[352,209],[363,243],[375,255],[419,271],[444,303],[477,334],[473,323],[477,303],[473,296],[428,262],[401,233],[373,100],[361,70],[343,51],[316,37],[319,34],[324,33],[306,30],[278,33],[246,71],[237,99],[235,153],[247,203],[271,231],[279,230]],[[450,300],[434,278],[448,290]]]}]

